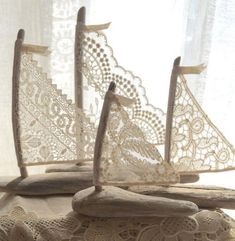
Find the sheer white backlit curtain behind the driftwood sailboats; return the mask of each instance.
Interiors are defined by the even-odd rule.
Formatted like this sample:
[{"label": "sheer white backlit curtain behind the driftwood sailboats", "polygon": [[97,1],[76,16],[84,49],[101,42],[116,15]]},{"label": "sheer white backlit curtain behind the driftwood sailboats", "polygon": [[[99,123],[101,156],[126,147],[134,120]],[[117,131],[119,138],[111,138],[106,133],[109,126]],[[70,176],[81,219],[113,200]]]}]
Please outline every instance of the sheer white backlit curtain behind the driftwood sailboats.
[{"label": "sheer white backlit curtain behind the driftwood sailboats", "polygon": [[[88,24],[112,21],[106,34],[119,65],[142,78],[149,102],[164,111],[174,58],[181,55],[185,65],[207,63],[202,76],[189,79],[190,87],[211,119],[235,144],[234,1],[2,0],[0,175],[18,173],[11,127],[16,33],[24,28],[25,42],[50,46],[48,71],[58,88],[73,99],[74,28],[81,6],[87,8]],[[203,174],[201,182],[232,186],[230,173]]]}]

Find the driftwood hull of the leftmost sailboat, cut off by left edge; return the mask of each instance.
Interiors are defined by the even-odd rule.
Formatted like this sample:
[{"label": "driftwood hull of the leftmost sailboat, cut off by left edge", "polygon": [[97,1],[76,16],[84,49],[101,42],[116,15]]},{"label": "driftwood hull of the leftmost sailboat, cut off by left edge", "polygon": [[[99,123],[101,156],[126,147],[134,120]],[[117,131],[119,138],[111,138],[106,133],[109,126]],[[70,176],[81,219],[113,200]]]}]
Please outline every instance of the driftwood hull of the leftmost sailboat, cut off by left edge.
[{"label": "driftwood hull of the leftmost sailboat, cut off by left edge", "polygon": [[61,172],[22,177],[0,177],[0,192],[21,195],[74,194],[92,186],[90,172]]}]

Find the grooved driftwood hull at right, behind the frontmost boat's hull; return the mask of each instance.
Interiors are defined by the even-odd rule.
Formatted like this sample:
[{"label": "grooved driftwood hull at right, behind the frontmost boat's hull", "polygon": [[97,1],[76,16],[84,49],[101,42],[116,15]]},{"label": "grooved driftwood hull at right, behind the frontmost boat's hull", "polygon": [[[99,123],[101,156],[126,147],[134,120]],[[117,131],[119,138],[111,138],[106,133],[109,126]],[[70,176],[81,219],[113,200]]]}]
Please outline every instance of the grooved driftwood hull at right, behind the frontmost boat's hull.
[{"label": "grooved driftwood hull at right, behind the frontmost boat's hull", "polygon": [[187,200],[196,203],[200,208],[235,209],[235,190],[198,185],[170,185],[130,187],[130,191],[158,197]]}]

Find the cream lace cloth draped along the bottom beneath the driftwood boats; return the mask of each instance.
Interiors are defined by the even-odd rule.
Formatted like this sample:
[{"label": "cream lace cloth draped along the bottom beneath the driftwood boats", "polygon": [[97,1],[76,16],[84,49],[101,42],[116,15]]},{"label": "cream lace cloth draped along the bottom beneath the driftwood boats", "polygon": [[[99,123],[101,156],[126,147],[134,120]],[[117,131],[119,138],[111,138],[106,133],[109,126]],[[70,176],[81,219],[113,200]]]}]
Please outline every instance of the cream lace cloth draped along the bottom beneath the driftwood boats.
[{"label": "cream lace cloth draped along the bottom beneath the driftwood boats", "polygon": [[41,218],[21,207],[0,217],[1,241],[234,241],[234,221],[222,212],[189,217]]}]

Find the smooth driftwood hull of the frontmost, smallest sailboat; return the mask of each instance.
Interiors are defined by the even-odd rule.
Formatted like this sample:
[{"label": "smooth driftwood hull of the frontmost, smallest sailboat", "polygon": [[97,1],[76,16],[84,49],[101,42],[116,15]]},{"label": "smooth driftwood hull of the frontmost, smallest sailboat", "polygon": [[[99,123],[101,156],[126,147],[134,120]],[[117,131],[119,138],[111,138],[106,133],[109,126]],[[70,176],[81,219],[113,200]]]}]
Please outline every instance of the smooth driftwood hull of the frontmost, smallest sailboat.
[{"label": "smooth driftwood hull of the frontmost, smallest sailboat", "polygon": [[73,210],[79,214],[95,217],[140,217],[140,216],[188,216],[198,212],[196,204],[163,197],[141,195],[105,186],[101,191],[95,187],[75,194]]}]

